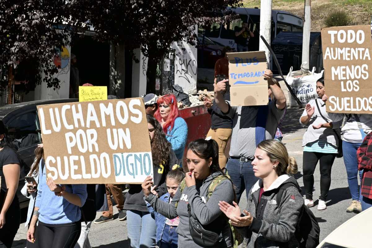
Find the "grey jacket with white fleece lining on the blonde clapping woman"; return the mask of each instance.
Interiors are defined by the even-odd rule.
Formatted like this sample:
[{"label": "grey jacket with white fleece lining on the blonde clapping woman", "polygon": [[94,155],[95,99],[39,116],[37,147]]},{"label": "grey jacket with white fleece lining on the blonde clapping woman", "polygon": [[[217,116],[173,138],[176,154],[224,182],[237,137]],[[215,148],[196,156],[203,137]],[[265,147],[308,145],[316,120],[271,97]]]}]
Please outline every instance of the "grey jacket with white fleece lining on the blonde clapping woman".
[{"label": "grey jacket with white fleece lining on the blonde clapping woman", "polygon": [[[283,192],[282,200],[277,203],[277,189],[285,182],[298,185],[294,177],[281,175],[262,194],[259,203],[261,179],[249,191],[247,211],[253,216],[253,222],[248,227],[238,228],[238,231],[248,238],[248,248],[298,247],[294,234],[304,199],[299,193],[299,187],[293,186]],[[259,211],[256,210],[256,204]]]}]

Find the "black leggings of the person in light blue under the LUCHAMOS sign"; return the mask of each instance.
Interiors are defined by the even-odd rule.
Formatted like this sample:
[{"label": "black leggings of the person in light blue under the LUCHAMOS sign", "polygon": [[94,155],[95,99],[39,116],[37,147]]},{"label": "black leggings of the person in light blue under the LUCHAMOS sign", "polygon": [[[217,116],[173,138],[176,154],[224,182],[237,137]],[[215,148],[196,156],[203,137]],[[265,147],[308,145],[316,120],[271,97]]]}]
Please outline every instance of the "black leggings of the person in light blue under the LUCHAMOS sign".
[{"label": "black leggings of the person in light blue under the LUCHAMOS sign", "polygon": [[49,225],[39,221],[39,248],[73,248],[80,236],[81,222]]}]

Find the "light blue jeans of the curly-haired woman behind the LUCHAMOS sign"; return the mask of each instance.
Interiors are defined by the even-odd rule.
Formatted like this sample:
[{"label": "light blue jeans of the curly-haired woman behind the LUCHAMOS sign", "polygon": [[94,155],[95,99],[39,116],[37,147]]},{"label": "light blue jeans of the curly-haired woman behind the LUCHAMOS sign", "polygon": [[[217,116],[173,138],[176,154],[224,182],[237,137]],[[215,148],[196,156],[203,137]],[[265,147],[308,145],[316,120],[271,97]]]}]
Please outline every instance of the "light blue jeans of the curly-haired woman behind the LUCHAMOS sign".
[{"label": "light blue jeans of the curly-haired woman behind the LUCHAMOS sign", "polygon": [[156,224],[149,212],[137,210],[126,211],[128,243],[130,248],[154,248]]}]

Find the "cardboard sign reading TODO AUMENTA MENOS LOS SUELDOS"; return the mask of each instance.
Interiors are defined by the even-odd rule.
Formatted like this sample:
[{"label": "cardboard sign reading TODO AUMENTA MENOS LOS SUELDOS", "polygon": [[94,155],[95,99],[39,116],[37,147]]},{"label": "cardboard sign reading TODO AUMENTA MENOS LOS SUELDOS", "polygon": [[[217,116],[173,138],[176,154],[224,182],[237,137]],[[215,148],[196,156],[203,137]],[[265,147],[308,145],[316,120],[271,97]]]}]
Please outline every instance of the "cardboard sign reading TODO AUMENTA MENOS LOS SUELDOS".
[{"label": "cardboard sign reading TODO AUMENTA MENOS LOS SUELDOS", "polygon": [[327,112],[371,114],[371,27],[323,28]]}]

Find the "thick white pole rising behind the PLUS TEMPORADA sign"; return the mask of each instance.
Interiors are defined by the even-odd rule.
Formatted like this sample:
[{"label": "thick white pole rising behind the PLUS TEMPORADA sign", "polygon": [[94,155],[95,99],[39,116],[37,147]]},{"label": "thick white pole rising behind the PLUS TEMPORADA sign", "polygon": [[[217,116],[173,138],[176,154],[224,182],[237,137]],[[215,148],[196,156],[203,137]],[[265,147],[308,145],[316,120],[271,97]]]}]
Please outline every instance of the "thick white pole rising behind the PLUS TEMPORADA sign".
[{"label": "thick white pole rising behind the PLUS TEMPORADA sign", "polygon": [[[261,0],[260,14],[260,34],[266,39],[267,43],[271,43],[271,8],[272,0]],[[260,51],[265,51],[267,62],[270,65],[270,51],[260,39]]]}]

